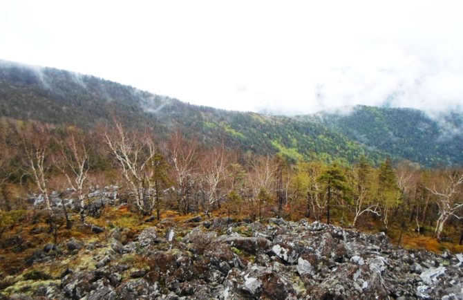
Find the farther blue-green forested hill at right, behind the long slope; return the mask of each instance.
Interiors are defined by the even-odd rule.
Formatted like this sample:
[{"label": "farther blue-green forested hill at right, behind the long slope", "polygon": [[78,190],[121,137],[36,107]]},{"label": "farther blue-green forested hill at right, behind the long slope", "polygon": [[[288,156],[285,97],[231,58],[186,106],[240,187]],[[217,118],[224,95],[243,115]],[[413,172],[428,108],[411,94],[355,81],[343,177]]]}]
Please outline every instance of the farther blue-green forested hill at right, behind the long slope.
[{"label": "farther blue-green forested hill at right, behind the long slope", "polygon": [[347,115],[320,113],[319,120],[369,149],[391,153],[422,165],[461,165],[462,115],[431,120],[415,109],[357,106]]}]

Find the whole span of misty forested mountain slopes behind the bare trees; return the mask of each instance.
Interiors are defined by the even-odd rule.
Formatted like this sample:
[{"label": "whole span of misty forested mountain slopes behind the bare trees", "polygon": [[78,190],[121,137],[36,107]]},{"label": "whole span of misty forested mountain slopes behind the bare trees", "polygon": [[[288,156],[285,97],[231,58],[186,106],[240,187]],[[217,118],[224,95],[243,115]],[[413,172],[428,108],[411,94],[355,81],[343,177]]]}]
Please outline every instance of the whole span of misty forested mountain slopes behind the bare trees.
[{"label": "whole span of misty forested mountain slopes behind the bare trees", "polygon": [[422,111],[368,106],[349,115],[296,118],[223,111],[90,75],[6,61],[0,61],[0,116],[83,128],[117,118],[129,126],[151,126],[160,138],[179,129],[206,144],[223,140],[228,147],[292,160],[355,162],[366,153],[376,163],[387,156],[426,166],[463,161],[457,113],[437,122]]}]

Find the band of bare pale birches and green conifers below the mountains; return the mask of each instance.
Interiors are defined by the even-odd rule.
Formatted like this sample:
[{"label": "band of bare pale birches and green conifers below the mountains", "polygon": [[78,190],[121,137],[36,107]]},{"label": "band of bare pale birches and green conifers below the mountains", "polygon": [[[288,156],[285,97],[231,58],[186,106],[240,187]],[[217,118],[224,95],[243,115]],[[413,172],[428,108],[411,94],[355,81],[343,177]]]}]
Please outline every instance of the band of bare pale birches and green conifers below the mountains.
[{"label": "band of bare pale birches and green conifers below the mountains", "polygon": [[[121,122],[91,130],[42,122],[0,121],[0,209],[24,208],[15,189],[40,195],[50,232],[57,219],[86,222],[89,191],[96,185],[120,185],[120,203],[142,216],[160,219],[164,210],[179,214],[214,212],[263,221],[268,217],[311,218],[353,227],[393,226],[402,234],[433,232],[460,225],[462,169],[422,169],[385,159],[372,165],[362,155],[353,165],[320,160],[294,161],[207,145],[172,130],[157,138],[149,127]],[[75,209],[53,203],[50,193],[68,189]],[[460,236],[460,244],[462,243]]]}]

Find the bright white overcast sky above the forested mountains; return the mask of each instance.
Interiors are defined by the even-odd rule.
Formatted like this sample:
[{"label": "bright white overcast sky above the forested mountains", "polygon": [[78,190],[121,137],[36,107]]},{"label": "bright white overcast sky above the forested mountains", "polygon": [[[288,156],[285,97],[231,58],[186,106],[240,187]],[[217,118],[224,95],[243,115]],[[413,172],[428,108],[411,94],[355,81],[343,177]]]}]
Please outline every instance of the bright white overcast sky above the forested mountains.
[{"label": "bright white overcast sky above the forested mountains", "polygon": [[301,114],[463,110],[463,1],[0,1],[0,59]]}]

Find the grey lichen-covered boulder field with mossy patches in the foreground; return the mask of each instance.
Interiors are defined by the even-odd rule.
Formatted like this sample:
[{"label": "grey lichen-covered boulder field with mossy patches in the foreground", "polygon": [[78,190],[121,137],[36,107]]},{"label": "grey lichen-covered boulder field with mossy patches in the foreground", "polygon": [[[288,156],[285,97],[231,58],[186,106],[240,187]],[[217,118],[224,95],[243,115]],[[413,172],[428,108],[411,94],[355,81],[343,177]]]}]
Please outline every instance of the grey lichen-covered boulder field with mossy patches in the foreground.
[{"label": "grey lichen-covered boulder field with mossy patches in the foreground", "polygon": [[48,244],[3,278],[0,298],[463,299],[462,254],[306,221],[187,222]]}]

